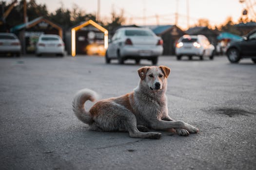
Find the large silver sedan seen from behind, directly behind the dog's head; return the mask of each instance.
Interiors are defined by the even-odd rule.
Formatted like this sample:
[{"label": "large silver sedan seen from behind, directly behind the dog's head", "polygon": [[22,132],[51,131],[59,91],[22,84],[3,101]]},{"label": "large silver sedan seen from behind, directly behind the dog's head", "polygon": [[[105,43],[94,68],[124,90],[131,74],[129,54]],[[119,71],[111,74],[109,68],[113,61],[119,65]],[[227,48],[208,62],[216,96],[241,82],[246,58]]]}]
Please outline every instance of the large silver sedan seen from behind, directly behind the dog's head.
[{"label": "large silver sedan seen from behind, directly behind the dog's head", "polygon": [[127,59],[134,59],[138,64],[141,59],[147,59],[156,65],[158,56],[163,52],[162,44],[162,39],[150,29],[120,28],[109,42],[106,63],[118,59],[118,63],[123,64]]}]

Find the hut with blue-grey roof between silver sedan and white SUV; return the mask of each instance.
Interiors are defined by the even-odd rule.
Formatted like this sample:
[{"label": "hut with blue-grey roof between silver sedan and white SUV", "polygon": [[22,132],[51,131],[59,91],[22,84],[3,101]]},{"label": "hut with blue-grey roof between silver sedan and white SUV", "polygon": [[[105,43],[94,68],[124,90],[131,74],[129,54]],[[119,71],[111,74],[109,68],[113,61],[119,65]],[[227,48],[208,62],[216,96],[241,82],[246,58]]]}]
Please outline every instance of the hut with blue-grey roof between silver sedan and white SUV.
[{"label": "hut with blue-grey roof between silver sedan and white SUV", "polygon": [[177,40],[185,34],[176,25],[149,26],[163,40],[163,55],[174,55]]}]

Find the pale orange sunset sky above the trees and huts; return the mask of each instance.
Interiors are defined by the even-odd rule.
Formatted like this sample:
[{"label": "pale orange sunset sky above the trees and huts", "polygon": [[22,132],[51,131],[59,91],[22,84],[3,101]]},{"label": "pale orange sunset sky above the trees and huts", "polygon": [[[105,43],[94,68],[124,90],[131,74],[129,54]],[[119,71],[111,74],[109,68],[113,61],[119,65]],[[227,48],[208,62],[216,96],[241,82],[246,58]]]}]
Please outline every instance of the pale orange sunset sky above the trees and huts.
[{"label": "pale orange sunset sky above the trees and huts", "polygon": [[[117,14],[123,9],[125,24],[165,25],[175,24],[175,13],[178,13],[177,25],[183,29],[188,25],[195,25],[199,18],[208,19],[210,25],[222,24],[227,17],[232,17],[237,22],[245,9],[245,3],[240,3],[239,0],[36,0],[39,4],[46,4],[50,12],[61,7],[61,4],[69,9],[76,4],[79,9],[93,14],[97,14],[98,1],[101,20],[109,20],[113,9]],[[256,0],[251,2],[255,3],[256,9]],[[252,17],[249,15],[249,18]]]}]

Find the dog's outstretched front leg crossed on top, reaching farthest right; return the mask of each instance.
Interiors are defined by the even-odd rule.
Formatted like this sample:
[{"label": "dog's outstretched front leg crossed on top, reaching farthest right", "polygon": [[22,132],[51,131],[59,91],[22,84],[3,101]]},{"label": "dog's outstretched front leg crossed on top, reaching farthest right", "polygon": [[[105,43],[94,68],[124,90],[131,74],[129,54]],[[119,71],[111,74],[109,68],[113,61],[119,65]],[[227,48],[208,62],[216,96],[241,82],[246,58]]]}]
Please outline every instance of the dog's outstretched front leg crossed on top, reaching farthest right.
[{"label": "dog's outstretched front leg crossed on top, reaching farthest right", "polygon": [[199,130],[183,121],[165,121],[165,120],[152,120],[151,127],[155,130],[164,130],[170,128],[182,128],[186,129],[190,133],[197,133]]}]

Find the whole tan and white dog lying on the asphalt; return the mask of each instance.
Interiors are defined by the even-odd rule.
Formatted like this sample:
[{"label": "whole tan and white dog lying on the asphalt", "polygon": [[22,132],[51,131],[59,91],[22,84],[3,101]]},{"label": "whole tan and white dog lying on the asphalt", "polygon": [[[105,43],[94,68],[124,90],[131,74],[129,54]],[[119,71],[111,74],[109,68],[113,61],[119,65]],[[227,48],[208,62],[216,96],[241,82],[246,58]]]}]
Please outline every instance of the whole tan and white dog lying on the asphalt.
[{"label": "whole tan and white dog lying on the asphalt", "polygon": [[138,69],[140,81],[133,92],[96,102],[89,111],[84,109],[87,100],[95,102],[97,93],[80,90],[73,100],[73,111],[79,120],[94,131],[129,132],[130,137],[159,139],[161,133],[149,129],[176,131],[188,136],[199,130],[183,121],[174,121],[168,115],[167,78],[171,69],[166,66],[146,66]]}]

